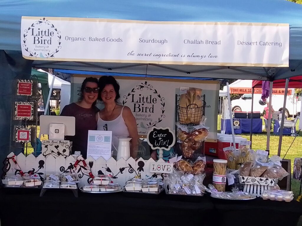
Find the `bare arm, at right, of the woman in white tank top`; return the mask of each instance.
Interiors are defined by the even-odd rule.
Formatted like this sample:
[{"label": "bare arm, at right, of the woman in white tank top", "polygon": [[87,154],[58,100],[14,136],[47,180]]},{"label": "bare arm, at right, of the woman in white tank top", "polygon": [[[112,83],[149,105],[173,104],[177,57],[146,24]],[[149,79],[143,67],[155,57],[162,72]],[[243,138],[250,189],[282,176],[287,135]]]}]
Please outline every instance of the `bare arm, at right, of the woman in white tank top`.
[{"label": "bare arm, at right, of the woman in white tank top", "polygon": [[137,132],[137,123],[136,120],[128,107],[124,107],[123,110],[123,118],[125,121],[125,124],[128,128],[128,132],[131,139],[131,148],[130,148],[130,155],[133,159],[136,158],[137,155],[137,146],[138,146],[138,132]]}]

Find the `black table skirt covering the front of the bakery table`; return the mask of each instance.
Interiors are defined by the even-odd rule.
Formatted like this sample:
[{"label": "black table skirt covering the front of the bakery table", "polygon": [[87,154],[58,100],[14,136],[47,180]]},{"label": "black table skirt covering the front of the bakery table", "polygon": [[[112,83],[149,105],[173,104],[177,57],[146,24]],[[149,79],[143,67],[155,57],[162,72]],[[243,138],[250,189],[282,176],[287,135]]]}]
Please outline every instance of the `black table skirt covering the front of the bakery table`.
[{"label": "black table skirt covering the front of the bakery table", "polygon": [[[302,203],[262,200],[226,201],[209,196],[195,202],[174,195],[150,198],[125,193],[0,190],[2,226],[13,225],[297,225]],[[152,198],[151,198],[152,197]],[[191,197],[190,197],[191,198]]]}]

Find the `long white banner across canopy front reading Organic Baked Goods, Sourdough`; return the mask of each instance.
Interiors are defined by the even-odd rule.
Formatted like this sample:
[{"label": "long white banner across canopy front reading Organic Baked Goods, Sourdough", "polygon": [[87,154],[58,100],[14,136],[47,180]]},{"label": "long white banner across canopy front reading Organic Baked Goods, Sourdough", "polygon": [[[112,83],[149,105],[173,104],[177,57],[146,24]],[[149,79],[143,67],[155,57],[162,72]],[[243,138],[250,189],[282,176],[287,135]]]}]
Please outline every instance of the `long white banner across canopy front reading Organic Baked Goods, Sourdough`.
[{"label": "long white banner across canopy front reading Organic Baked Goods, Sourdough", "polygon": [[22,17],[31,60],[288,67],[289,24]]}]

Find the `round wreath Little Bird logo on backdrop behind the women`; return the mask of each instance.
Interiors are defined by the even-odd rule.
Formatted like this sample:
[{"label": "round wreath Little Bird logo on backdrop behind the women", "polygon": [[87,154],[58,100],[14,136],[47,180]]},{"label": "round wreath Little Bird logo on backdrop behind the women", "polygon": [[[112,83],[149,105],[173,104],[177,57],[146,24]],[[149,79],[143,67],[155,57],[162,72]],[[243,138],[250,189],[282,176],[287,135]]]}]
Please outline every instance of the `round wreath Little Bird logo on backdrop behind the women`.
[{"label": "round wreath Little Bird logo on backdrop behind the women", "polygon": [[136,85],[124,95],[123,105],[131,109],[139,134],[146,135],[151,127],[165,118],[165,98],[147,81]]}]

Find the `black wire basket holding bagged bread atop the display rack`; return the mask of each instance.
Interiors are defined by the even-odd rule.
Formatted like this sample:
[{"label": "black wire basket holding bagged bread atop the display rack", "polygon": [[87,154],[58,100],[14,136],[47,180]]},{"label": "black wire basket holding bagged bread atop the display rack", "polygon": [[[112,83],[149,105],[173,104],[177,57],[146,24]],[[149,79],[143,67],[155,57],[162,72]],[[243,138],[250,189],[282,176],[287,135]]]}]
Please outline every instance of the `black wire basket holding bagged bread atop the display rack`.
[{"label": "black wire basket holding bagged bread atop the display rack", "polygon": [[177,116],[180,124],[183,125],[198,125],[204,115],[204,105],[198,107],[197,104],[190,104],[186,108],[179,106],[177,101]]}]

